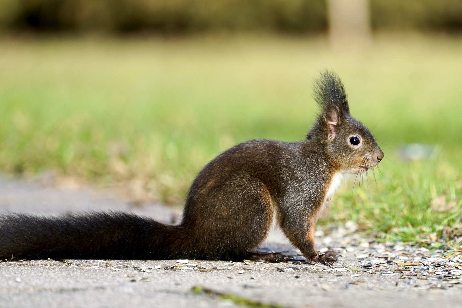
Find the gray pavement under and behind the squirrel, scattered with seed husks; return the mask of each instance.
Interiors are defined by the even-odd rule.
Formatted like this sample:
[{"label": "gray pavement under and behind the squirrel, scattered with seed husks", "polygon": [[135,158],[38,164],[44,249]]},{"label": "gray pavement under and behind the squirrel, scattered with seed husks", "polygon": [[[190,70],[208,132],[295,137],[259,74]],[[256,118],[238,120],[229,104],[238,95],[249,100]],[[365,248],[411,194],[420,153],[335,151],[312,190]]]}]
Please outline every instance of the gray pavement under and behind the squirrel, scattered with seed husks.
[{"label": "gray pavement under and behind the squirrel, scattered with seed husks", "polygon": [[[133,206],[128,200],[90,189],[55,189],[0,180],[0,215],[4,211],[55,215],[86,210],[132,211],[170,223],[181,209],[160,204]],[[354,235],[342,237],[340,232],[338,237],[317,237],[316,242],[318,248],[341,249],[343,257],[334,265],[336,269],[298,262],[3,261],[0,307],[239,307],[219,294],[294,308],[462,307],[461,279],[446,279],[434,272],[404,273],[395,264],[372,263],[370,269],[364,269],[368,263],[360,262],[356,256],[367,252],[373,259],[375,252],[383,262],[389,257],[383,248],[374,248],[374,244],[368,247]],[[286,250],[294,256],[298,253],[278,230],[272,232],[264,246],[267,250]],[[456,261],[458,264],[462,265]],[[207,292],[196,294],[194,286]]]}]

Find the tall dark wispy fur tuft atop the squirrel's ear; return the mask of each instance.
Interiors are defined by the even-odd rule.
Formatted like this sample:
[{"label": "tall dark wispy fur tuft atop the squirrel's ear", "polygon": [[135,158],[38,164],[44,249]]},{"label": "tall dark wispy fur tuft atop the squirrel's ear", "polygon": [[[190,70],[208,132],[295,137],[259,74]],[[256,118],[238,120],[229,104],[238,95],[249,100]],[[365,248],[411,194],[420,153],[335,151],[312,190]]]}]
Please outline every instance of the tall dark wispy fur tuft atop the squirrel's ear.
[{"label": "tall dark wispy fur tuft atop the squirrel's ear", "polygon": [[313,88],[314,99],[321,107],[325,118],[331,112],[332,105],[337,109],[339,124],[344,115],[350,114],[345,88],[335,72],[322,71],[321,76],[314,81]]}]

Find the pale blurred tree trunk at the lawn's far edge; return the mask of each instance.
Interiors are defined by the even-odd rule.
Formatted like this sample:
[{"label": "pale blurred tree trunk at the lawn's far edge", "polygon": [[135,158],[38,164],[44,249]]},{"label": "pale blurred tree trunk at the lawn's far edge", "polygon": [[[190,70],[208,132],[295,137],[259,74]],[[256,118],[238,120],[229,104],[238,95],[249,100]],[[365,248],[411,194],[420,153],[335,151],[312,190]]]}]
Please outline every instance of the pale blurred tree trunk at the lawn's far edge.
[{"label": "pale blurred tree trunk at the lawn's far edge", "polygon": [[370,42],[369,0],[328,0],[328,14],[334,47],[364,46]]}]

